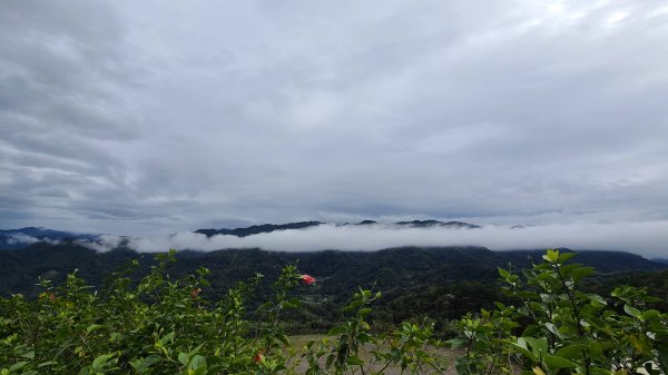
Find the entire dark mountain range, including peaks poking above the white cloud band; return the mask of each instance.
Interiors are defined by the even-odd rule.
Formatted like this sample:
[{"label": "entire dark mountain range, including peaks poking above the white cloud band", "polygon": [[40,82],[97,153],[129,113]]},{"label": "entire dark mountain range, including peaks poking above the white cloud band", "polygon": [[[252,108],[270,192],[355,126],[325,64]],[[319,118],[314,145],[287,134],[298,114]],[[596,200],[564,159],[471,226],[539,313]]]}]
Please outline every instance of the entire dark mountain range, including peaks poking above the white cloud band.
[{"label": "entire dark mountain range, including peaks poking above the white cloud band", "polygon": [[[262,225],[245,228],[198,229],[196,233],[237,237],[275,230],[298,230],[322,225],[320,221],[302,221],[282,225]],[[383,225],[374,221],[342,225]],[[435,220],[402,221],[393,224],[405,227],[444,226],[453,229],[475,229],[466,223]],[[521,229],[518,229],[521,230]],[[23,237],[21,237],[23,236]],[[85,278],[88,285],[101,287],[108,275],[128,260],[138,259],[139,268],[134,279],[146,275],[155,265],[154,256],[125,247],[122,243],[109,251],[97,251],[91,241],[98,235],[81,235],[46,228],[21,228],[0,231],[0,296],[23,294],[33,297],[39,293],[39,278],[58,284],[69,273]],[[21,239],[27,239],[21,243]],[[561,249],[570,251],[569,249]],[[593,287],[618,285],[621,277],[626,284],[648,285],[655,294],[668,300],[668,264],[652,261],[639,255],[623,251],[577,251],[574,261],[598,270]],[[225,295],[225,290],[238,280],[252,278],[256,273],[265,275],[257,288],[258,297],[271,293],[271,280],[285,265],[296,264],[298,269],[317,279],[308,288],[312,303],[304,310],[307,316],[294,317],[298,322],[334,322],[335,312],[358,287],[373,287],[383,293],[377,318],[400,322],[407,317],[426,314],[436,322],[448,322],[469,310],[490,306],[502,300],[497,285],[498,268],[520,269],[531,261],[541,261],[542,249],[492,251],[479,246],[415,247],[403,246],[377,251],[267,251],[261,249],[220,249],[215,251],[184,250],[177,253],[177,263],[169,274],[180,277],[205,266],[210,270],[210,287],[204,293],[212,299]],[[313,327],[311,327],[313,328]],[[308,330],[310,328],[304,328]]]}]

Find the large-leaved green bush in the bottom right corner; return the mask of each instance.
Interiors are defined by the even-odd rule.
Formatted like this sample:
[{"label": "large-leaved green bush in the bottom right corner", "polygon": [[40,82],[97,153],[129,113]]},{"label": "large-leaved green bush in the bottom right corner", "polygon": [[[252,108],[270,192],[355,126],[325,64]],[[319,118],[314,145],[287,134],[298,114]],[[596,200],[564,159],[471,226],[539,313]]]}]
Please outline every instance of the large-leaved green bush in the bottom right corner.
[{"label": "large-leaved green bush in the bottom right corner", "polygon": [[521,275],[499,269],[514,306],[460,320],[460,374],[666,374],[668,316],[644,289],[620,286],[609,298],[578,289],[590,267],[548,250]]}]

